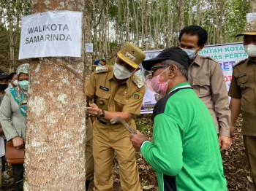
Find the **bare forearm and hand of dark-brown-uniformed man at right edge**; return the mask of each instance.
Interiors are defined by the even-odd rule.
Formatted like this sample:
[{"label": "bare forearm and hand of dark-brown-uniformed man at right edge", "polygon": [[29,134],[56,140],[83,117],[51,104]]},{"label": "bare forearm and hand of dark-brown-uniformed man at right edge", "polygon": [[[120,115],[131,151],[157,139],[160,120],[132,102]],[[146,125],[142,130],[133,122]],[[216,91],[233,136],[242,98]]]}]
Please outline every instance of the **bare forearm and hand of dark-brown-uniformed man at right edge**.
[{"label": "bare forearm and hand of dark-brown-uniformed man at right edge", "polygon": [[235,123],[241,110],[241,99],[231,98],[230,110],[231,110],[230,131],[231,131],[231,137],[234,137]]}]

